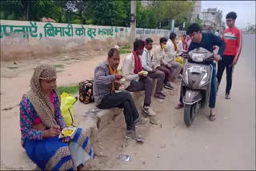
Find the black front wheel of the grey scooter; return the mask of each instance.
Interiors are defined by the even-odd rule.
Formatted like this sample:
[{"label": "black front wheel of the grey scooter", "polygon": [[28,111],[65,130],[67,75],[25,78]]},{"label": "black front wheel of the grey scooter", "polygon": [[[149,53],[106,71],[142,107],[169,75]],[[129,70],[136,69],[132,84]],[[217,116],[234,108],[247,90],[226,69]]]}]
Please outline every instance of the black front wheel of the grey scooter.
[{"label": "black front wheel of the grey scooter", "polygon": [[190,125],[192,125],[194,121],[195,107],[196,107],[196,104],[184,106],[184,122],[187,127],[190,127]]}]

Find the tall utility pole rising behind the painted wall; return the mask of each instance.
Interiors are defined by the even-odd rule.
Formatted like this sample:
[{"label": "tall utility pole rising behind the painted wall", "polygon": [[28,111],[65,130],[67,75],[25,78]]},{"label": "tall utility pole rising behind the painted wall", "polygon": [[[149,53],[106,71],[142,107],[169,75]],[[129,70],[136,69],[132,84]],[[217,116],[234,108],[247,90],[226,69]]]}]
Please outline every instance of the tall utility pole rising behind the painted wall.
[{"label": "tall utility pole rising behind the painted wall", "polygon": [[136,35],[136,1],[130,1],[130,47],[133,48]]}]

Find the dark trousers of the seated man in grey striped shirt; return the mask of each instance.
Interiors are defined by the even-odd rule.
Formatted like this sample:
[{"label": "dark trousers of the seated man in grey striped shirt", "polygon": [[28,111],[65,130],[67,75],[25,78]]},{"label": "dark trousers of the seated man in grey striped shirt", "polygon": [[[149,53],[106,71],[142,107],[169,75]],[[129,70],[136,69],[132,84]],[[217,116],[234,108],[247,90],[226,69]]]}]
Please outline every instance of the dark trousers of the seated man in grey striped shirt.
[{"label": "dark trousers of the seated man in grey striped shirt", "polygon": [[134,121],[138,119],[138,110],[134,104],[134,99],[127,91],[122,91],[120,93],[110,93],[103,97],[102,103],[98,105],[99,109],[111,109],[118,107],[123,109],[126,120],[127,130],[135,130]]}]

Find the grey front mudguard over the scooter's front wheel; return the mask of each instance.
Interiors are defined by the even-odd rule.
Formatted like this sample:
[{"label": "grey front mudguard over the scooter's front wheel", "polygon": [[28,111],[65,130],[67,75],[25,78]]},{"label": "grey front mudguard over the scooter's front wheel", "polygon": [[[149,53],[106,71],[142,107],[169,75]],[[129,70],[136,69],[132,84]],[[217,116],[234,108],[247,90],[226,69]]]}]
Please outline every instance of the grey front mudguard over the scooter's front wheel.
[{"label": "grey front mudguard over the scooter's front wheel", "polygon": [[199,90],[186,89],[183,103],[186,105],[193,105],[194,103],[202,100],[202,94]]}]

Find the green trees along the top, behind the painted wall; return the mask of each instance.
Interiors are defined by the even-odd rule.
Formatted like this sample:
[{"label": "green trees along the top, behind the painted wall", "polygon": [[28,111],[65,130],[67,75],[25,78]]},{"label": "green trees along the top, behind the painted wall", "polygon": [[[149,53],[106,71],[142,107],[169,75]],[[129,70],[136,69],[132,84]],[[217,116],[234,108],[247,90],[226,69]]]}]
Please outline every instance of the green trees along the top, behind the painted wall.
[{"label": "green trees along the top, behind the painted wall", "polygon": [[[193,1],[136,1],[136,26],[170,29],[171,20],[182,28],[190,24]],[[0,19],[130,27],[130,1],[118,0],[5,0],[0,1]],[[146,4],[146,5],[145,5]],[[159,24],[161,23],[161,27]]]}]

